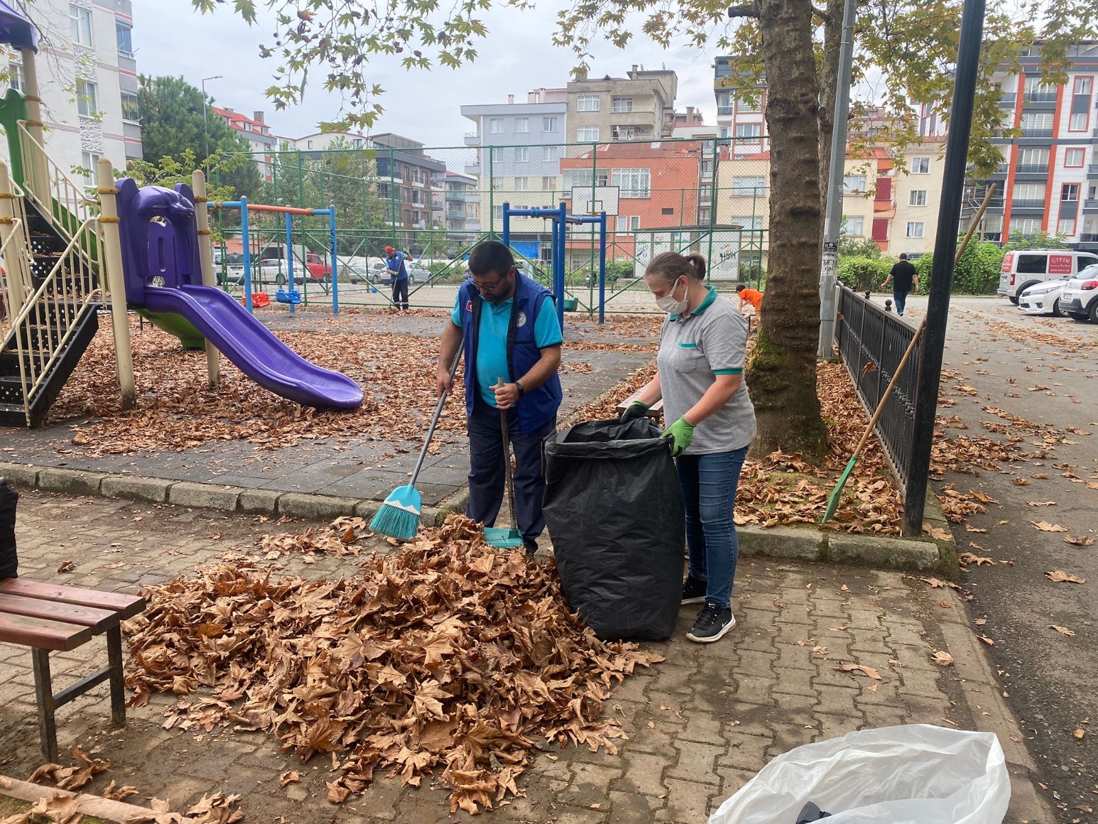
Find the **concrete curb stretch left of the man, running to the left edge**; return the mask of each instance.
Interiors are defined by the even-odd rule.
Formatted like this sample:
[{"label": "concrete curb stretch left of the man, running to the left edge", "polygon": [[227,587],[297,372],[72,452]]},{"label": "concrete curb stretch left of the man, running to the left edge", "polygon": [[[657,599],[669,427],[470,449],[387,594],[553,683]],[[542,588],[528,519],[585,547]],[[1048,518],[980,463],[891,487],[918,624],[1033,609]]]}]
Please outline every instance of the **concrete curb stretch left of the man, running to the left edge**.
[{"label": "concrete curb stretch left of the man, running to the left edge", "polygon": [[[0,477],[7,478],[13,486],[38,489],[43,492],[127,498],[134,501],[171,503],[177,506],[215,509],[271,517],[287,515],[315,521],[334,521],[341,515],[358,515],[369,520],[381,506],[380,501],[356,498],[246,489],[170,478],[138,478],[24,464],[0,464]],[[468,492],[463,489],[458,490],[438,506],[424,506],[419,521],[424,526],[438,526],[451,512],[463,512],[468,500]]]}]

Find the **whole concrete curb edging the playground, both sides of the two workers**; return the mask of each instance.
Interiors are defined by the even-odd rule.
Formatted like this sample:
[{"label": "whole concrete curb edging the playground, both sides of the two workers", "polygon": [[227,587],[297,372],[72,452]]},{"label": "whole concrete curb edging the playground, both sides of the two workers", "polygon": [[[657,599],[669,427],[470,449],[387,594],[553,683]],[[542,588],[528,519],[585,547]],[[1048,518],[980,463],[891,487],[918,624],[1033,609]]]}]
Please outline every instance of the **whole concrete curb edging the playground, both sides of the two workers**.
[{"label": "whole concrete curb edging the playground, both sides of the two workers", "polygon": [[[78,469],[38,468],[20,464],[0,464],[0,477],[7,477],[16,486],[44,492],[100,494],[249,515],[288,515],[316,521],[333,521],[341,515],[358,515],[369,520],[381,505],[380,501],[366,499],[245,489],[167,478],[137,478]],[[424,506],[421,523],[424,526],[438,526],[451,512],[463,512],[468,500],[468,490],[462,488],[438,506]],[[933,497],[928,497],[927,500],[927,522],[949,531],[945,516]],[[948,578],[955,578],[957,575],[956,548],[952,542],[929,537],[910,539],[886,535],[855,535],[814,528],[807,524],[769,528],[740,526],[737,532],[740,552],[749,556],[934,572]]]}]

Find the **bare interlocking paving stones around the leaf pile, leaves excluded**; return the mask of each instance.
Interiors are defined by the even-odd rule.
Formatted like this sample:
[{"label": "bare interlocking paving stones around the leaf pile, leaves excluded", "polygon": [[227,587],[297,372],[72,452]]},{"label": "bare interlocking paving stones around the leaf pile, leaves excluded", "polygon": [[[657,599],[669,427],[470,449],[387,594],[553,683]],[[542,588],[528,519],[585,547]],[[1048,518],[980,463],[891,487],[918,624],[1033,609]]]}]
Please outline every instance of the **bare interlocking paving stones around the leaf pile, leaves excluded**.
[{"label": "bare interlocking paving stones around the leaf pile, leaves excluded", "polygon": [[[35,580],[134,592],[254,546],[264,532],[307,525],[26,492],[19,508],[20,571]],[[378,548],[391,549],[381,542]],[[67,560],[75,571],[58,574]],[[350,558],[281,564],[284,572],[317,578],[355,571]],[[525,797],[492,815],[529,824],[701,824],[769,759],[802,744],[914,722],[979,728],[983,716],[994,714],[967,698],[975,687],[962,676],[972,668],[944,669],[930,661],[932,650],[946,649],[944,621],[952,622],[954,635],[963,624],[971,626],[949,590],[928,590],[898,572],[752,558],[740,565],[732,608],[738,625],[719,643],[684,639],[697,610],[691,606],[683,609],[670,641],[646,645],[666,660],[638,668],[604,708],[629,736],[617,754],[541,751],[520,779]],[[978,645],[973,650],[982,656]],[[54,654],[55,683],[66,686],[104,659],[99,638]],[[881,680],[837,670],[847,662],[875,668]],[[0,644],[0,773],[26,778],[41,760],[29,652]],[[994,702],[996,688],[982,690],[979,700]],[[448,814],[447,793],[437,783],[401,787],[382,773],[362,795],[329,804],[324,781],[332,778],[330,761],[302,765],[257,733],[166,731],[163,713],[172,703],[170,695],[155,695],[148,706],[128,711],[125,728],[111,730],[103,684],[58,712],[63,750],[78,745],[113,765],[86,791],[101,791],[113,779],[137,788],[135,802],[168,798],[173,809],[203,793],[239,793],[240,809],[253,822],[374,824],[463,815]],[[1000,739],[1010,730],[1007,723]],[[1012,765],[1026,757],[1021,745],[1008,749]],[[290,769],[301,772],[302,782],[281,789],[278,777]],[[1012,771],[1016,786],[1028,787],[1028,771]],[[1031,804],[1009,820],[1052,821],[1031,809],[1040,811]]]}]

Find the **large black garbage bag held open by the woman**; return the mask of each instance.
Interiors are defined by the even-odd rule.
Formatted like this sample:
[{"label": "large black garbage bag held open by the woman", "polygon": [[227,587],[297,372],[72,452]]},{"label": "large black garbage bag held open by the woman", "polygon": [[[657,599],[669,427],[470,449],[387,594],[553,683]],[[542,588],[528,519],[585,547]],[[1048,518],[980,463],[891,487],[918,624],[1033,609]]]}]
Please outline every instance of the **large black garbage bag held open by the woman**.
[{"label": "large black garbage bag held open by the woman", "polygon": [[682,601],[679,477],[648,419],[587,421],[546,442],[545,516],[569,606],[603,641],[666,638]]}]

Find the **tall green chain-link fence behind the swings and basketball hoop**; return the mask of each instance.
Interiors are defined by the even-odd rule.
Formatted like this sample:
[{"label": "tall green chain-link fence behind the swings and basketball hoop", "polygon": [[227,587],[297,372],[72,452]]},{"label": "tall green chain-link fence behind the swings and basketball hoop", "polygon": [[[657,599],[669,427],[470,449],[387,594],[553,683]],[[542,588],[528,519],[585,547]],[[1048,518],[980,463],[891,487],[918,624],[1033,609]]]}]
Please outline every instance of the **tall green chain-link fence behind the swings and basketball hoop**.
[{"label": "tall green chain-link fence behind the swings and basketball hoop", "polygon": [[[391,304],[385,246],[413,257],[413,305],[452,305],[469,249],[501,236],[505,203],[564,202],[573,214],[607,213],[608,312],[654,311],[640,276],[661,252],[701,252],[709,260],[710,282],[721,291],[738,282],[759,286],[765,277],[769,160],[758,138],[438,148],[361,148],[345,138],[324,143],[333,147],[254,155],[253,166],[215,172],[214,182],[226,197],[245,196],[253,203],[334,205],[344,307]],[[221,238],[222,282],[239,290],[239,212],[214,209],[211,221]],[[253,282],[261,285],[257,290],[273,291],[285,282],[292,260],[305,302],[329,303],[329,267],[316,263],[329,257],[327,219],[294,215],[290,224],[288,243],[284,215],[249,214]],[[551,229],[542,219],[511,221],[520,268],[546,285]],[[565,247],[565,298],[594,313],[597,227],[570,225]]]}]

